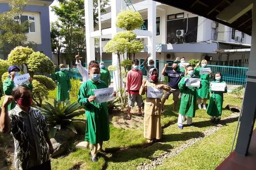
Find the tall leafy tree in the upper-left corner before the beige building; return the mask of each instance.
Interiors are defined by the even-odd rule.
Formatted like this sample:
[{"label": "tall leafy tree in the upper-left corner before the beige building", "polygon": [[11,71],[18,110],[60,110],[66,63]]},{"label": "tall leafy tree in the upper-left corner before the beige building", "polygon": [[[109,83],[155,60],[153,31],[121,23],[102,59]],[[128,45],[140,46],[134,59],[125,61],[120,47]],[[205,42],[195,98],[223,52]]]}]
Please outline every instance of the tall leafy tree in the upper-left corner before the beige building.
[{"label": "tall leafy tree in the upper-left corner before the beige building", "polygon": [[[28,0],[13,0],[10,10],[0,14],[0,53],[7,58],[9,52],[16,46],[34,44],[27,42],[27,32],[30,22],[21,22],[21,16]],[[31,46],[31,45],[30,45]]]}]

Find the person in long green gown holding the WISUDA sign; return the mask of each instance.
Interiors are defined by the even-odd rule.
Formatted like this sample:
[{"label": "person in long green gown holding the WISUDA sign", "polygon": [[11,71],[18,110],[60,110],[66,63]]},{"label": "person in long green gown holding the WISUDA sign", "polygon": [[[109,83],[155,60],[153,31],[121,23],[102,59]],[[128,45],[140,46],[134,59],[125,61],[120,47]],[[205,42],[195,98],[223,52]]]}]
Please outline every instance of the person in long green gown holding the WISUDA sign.
[{"label": "person in long green gown holding the WISUDA sign", "polygon": [[[79,89],[78,102],[85,107],[87,117],[86,135],[90,142],[91,159],[97,162],[97,152],[102,150],[103,141],[108,141],[109,117],[107,103],[96,103],[94,89],[107,88],[107,84],[100,80],[100,67],[93,63],[89,65],[90,78]],[[115,95],[115,92],[114,92]]]}]

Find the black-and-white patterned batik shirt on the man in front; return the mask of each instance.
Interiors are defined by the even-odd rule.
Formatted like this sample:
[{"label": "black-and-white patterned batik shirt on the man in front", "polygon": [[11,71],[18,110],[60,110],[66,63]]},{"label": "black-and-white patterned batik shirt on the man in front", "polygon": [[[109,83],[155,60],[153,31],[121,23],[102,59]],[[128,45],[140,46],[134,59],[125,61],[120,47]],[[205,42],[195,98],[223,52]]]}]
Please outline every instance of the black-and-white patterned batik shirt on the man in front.
[{"label": "black-and-white patterned batik shirt on the man in front", "polygon": [[44,116],[34,107],[29,114],[18,105],[9,111],[11,135],[14,138],[14,162],[17,169],[27,169],[49,161],[50,154],[44,133],[49,132]]}]

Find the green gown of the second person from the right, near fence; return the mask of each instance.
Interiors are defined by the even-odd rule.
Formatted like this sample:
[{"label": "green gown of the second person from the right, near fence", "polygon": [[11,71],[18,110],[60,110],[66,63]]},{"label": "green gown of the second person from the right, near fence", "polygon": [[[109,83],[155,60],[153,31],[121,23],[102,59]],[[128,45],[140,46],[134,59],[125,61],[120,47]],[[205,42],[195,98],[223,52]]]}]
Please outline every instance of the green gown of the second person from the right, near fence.
[{"label": "green gown of the second person from the right, near fence", "polygon": [[210,74],[200,75],[200,69],[205,67],[197,68],[195,73],[201,78],[202,88],[197,89],[197,98],[210,98],[209,86],[210,86]]}]

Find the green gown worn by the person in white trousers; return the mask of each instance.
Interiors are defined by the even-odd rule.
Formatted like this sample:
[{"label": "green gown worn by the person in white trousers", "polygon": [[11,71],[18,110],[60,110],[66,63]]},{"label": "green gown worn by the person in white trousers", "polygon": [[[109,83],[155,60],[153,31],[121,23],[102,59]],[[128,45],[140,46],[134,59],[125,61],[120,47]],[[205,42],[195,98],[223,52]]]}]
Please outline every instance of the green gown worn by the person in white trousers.
[{"label": "green gown worn by the person in white trousers", "polygon": [[197,88],[187,87],[186,82],[184,81],[185,78],[190,78],[190,76],[184,76],[179,82],[180,92],[183,92],[179,113],[184,116],[195,117]]}]

